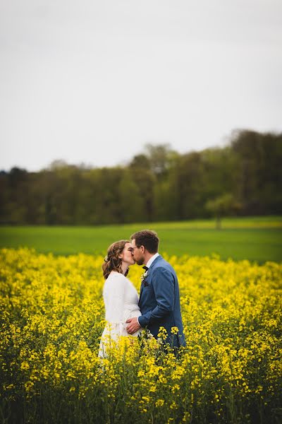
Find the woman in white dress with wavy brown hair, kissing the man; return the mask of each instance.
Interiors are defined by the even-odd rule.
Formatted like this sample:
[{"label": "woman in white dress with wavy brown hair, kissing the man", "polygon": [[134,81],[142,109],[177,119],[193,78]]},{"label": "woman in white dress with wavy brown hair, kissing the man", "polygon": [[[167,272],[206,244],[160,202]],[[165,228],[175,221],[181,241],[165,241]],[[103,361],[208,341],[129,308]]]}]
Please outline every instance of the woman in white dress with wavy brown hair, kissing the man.
[{"label": "woman in white dress with wavy brown hair, kissing the man", "polygon": [[[126,278],[128,267],[135,264],[132,252],[133,246],[128,240],[114,242],[109,246],[102,265],[105,278],[103,298],[106,326],[99,346],[100,358],[106,358],[106,349],[111,340],[117,341],[118,336],[128,336],[126,320],[141,315],[137,290]],[[141,331],[142,329],[137,330],[133,336],[138,336]]]}]

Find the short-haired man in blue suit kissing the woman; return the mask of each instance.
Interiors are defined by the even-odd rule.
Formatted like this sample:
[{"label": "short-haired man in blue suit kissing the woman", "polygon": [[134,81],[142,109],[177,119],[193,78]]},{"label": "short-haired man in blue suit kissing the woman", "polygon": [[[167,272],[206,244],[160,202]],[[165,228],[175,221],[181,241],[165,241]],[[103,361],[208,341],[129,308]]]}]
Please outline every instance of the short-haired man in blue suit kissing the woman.
[{"label": "short-haired man in blue suit kissing the woman", "polygon": [[[130,237],[133,245],[133,259],[136,264],[145,265],[145,278],[140,289],[139,307],[142,315],[128,319],[128,334],[140,327],[151,331],[157,338],[159,327],[167,331],[166,343],[173,347],[186,346],[180,312],[179,287],[176,272],[158,253],[157,232],[142,230]],[[177,327],[178,331],[171,331]]]}]

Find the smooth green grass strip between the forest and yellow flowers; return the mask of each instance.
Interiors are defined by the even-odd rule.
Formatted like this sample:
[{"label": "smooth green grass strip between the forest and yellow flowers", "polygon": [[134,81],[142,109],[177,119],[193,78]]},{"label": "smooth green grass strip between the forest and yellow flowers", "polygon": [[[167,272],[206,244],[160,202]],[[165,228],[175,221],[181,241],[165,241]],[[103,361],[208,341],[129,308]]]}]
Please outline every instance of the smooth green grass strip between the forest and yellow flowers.
[{"label": "smooth green grass strip between the forest and yellow flowers", "polygon": [[221,230],[214,220],[170,223],[137,223],[97,227],[0,227],[0,247],[34,247],[54,254],[102,253],[116,240],[129,238],[136,230],[156,230],[160,252],[169,255],[212,255],[221,259],[282,260],[282,217],[226,218]]}]

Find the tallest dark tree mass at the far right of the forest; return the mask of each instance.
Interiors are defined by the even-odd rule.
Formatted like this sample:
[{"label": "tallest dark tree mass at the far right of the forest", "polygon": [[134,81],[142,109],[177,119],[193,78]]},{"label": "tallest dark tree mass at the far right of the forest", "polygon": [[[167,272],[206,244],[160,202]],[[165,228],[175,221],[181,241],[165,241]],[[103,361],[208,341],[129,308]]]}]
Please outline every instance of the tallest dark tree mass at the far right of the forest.
[{"label": "tallest dark tree mass at the far right of the forest", "polygon": [[282,134],[233,131],[238,186],[245,215],[282,211]]}]

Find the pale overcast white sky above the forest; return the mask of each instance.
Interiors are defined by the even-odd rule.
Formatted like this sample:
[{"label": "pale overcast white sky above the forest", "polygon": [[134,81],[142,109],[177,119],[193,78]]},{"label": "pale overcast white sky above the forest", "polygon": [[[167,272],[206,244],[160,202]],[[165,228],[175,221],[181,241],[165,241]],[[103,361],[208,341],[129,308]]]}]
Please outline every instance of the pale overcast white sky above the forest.
[{"label": "pale overcast white sky above the forest", "polygon": [[281,0],[0,0],[0,169],[282,131]]}]

